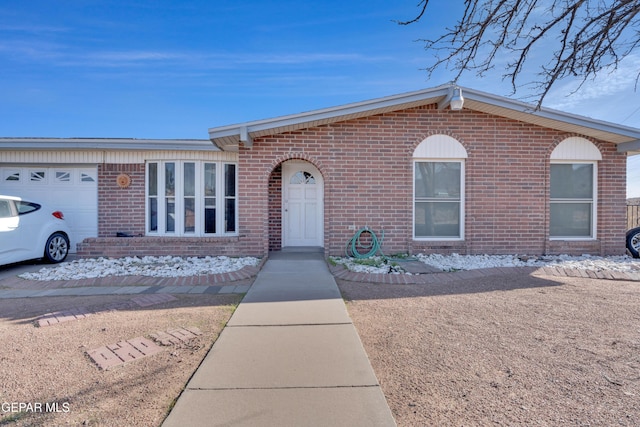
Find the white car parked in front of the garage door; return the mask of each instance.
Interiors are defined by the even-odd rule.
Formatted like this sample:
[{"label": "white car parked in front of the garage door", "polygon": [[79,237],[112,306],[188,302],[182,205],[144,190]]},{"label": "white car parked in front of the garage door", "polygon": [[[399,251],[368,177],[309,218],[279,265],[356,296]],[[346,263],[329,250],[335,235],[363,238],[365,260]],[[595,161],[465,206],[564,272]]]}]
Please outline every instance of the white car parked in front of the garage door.
[{"label": "white car parked in front of the garage door", "polygon": [[62,212],[19,197],[0,195],[0,265],[69,254],[69,226]]}]

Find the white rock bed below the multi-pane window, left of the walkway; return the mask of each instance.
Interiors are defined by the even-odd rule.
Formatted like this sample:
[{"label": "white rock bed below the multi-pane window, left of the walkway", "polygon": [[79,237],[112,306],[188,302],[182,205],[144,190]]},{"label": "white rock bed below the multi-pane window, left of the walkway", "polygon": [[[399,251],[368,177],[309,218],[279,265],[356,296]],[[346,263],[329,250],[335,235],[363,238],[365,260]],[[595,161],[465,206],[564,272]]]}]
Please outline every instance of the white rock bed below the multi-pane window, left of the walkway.
[{"label": "white rock bed below the multi-pane window, left of the walkway", "polygon": [[259,262],[260,260],[254,257],[227,256],[78,259],[53,267],[44,267],[37,272],[23,273],[20,277],[29,280],[94,279],[107,276],[187,277],[228,273],[240,270],[244,266],[255,266]]}]

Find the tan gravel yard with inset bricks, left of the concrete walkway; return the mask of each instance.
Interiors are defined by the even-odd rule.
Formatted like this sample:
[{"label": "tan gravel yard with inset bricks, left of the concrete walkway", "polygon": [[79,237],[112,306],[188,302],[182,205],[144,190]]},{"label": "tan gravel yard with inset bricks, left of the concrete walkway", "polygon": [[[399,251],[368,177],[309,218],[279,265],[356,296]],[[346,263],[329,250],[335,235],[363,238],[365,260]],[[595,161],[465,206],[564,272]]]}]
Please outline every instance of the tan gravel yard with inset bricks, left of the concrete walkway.
[{"label": "tan gravel yard with inset bricks, left of the concrete walkway", "polygon": [[[160,425],[241,296],[176,298],[146,308],[128,304],[126,295],[0,300],[0,425]],[[104,310],[114,304],[128,308]],[[43,314],[75,307],[96,313],[34,325]],[[108,370],[87,356],[101,346],[190,327],[202,335]]]}]

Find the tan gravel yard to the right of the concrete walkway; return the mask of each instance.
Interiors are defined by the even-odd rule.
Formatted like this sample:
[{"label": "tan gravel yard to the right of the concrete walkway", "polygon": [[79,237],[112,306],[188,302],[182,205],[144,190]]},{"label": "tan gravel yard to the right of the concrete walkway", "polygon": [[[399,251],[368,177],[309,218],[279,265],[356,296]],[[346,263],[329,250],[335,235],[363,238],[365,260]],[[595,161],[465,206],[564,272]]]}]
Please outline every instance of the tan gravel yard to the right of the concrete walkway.
[{"label": "tan gravel yard to the right of the concrete walkway", "polygon": [[640,283],[340,287],[399,426],[640,425]]}]

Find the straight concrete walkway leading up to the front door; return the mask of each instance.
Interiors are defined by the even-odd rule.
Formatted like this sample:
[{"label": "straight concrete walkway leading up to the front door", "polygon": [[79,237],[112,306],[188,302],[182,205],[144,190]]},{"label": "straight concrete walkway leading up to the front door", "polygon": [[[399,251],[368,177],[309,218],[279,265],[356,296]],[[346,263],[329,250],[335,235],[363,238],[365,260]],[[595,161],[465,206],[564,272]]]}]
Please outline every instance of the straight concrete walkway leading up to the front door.
[{"label": "straight concrete walkway leading up to the front door", "polygon": [[272,254],[163,426],[395,426],[320,253]]}]

